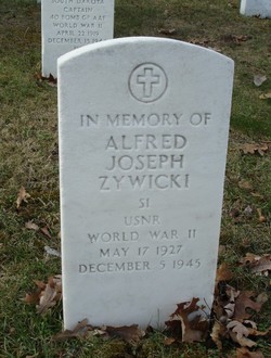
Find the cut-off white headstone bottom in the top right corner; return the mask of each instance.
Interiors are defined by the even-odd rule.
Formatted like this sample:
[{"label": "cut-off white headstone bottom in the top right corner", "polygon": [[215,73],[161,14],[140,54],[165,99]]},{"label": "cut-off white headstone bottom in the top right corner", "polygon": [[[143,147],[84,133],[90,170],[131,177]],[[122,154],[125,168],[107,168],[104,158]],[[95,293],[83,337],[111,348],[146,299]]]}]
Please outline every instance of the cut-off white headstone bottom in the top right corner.
[{"label": "cut-off white headstone bottom in the top right corner", "polygon": [[271,0],[241,0],[240,12],[246,16],[271,17]]}]

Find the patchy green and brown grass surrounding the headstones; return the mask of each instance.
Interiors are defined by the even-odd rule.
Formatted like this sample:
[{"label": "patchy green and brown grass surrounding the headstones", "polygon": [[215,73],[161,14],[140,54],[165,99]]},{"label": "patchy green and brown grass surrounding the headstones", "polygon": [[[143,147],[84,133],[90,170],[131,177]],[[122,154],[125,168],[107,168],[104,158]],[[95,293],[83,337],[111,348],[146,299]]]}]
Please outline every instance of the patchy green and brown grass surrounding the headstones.
[{"label": "patchy green and brown grass surrounding the headstones", "polygon": [[[56,88],[35,77],[41,52],[36,0],[1,0],[0,16],[0,357],[219,357],[206,343],[166,347],[162,332],[134,345],[99,338],[54,342],[62,329],[61,305],[41,317],[21,301],[33,291],[33,280],[61,272],[60,259],[44,256],[46,245],[60,250]],[[173,29],[169,37],[218,49],[235,61],[220,261],[231,265],[232,284],[256,292],[270,292],[270,279],[253,277],[237,263],[246,252],[270,253],[271,155],[243,155],[240,148],[271,141],[271,101],[259,99],[271,87],[270,27],[270,20],[241,16],[237,0],[116,0],[115,37],[166,36]],[[255,74],[268,77],[259,88]],[[241,180],[250,189],[241,188]],[[22,186],[31,197],[17,210]],[[251,215],[246,216],[248,206]],[[26,229],[29,220],[48,227],[52,238]],[[256,319],[262,329],[270,325],[270,299]],[[270,342],[262,337],[258,343],[268,356]],[[234,345],[225,343],[223,356],[233,351]]]}]

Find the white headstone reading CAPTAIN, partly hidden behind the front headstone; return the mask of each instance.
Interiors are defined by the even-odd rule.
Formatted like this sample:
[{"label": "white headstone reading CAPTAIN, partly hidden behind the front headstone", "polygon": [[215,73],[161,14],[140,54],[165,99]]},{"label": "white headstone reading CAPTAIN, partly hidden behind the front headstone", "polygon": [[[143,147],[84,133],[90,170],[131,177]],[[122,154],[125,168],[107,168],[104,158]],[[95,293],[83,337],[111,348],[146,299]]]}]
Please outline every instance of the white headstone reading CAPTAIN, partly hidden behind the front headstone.
[{"label": "white headstone reading CAPTAIN, partly hidden behind the front headstone", "polygon": [[114,0],[43,0],[41,27],[42,75],[56,77],[59,56],[113,38]]}]

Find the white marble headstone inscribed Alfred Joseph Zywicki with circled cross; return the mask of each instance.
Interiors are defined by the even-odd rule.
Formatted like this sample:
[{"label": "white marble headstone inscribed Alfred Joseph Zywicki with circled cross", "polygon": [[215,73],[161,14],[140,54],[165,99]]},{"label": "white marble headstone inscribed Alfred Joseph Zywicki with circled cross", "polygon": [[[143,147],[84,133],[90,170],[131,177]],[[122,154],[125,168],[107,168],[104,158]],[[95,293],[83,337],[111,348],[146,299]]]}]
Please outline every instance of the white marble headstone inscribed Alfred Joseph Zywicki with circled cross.
[{"label": "white marble headstone inscribed Alfred Joseph Zywicki with circled cross", "polygon": [[233,61],[160,38],[59,60],[64,324],[211,307]]}]

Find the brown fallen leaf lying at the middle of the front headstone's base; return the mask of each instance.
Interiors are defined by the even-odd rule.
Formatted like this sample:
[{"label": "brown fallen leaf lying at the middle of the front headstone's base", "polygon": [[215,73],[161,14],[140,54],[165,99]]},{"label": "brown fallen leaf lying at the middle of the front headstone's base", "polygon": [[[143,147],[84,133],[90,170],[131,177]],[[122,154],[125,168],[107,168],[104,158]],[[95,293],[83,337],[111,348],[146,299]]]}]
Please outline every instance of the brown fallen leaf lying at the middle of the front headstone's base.
[{"label": "brown fallen leaf lying at the middle of the front headstone's base", "polygon": [[145,332],[139,329],[138,324],[111,327],[106,325],[103,329],[112,337],[119,337],[126,342],[139,342],[145,335]]}]

